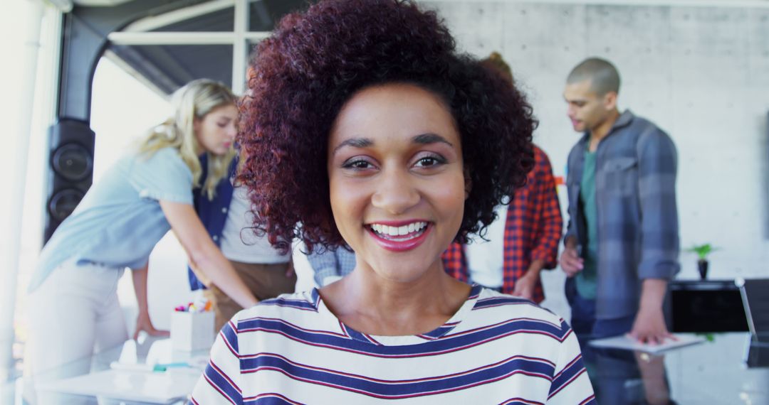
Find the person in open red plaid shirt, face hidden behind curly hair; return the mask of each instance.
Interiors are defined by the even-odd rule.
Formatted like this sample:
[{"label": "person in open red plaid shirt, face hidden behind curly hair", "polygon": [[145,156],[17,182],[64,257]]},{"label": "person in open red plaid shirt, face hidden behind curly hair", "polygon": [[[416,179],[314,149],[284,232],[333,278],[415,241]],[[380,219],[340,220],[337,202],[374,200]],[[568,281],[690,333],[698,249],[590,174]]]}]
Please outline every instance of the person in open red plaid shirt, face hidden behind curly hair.
[{"label": "person in open red plaid shirt, face hidden behind curly hair", "polygon": [[[510,67],[497,52],[481,64],[513,83]],[[538,147],[534,146],[534,168],[526,185],[511,196],[507,209],[498,209],[498,215],[486,235],[491,243],[480,239],[468,246],[452,243],[443,254],[444,268],[462,281],[541,302],[540,272],[558,264],[563,219],[550,160]]]}]

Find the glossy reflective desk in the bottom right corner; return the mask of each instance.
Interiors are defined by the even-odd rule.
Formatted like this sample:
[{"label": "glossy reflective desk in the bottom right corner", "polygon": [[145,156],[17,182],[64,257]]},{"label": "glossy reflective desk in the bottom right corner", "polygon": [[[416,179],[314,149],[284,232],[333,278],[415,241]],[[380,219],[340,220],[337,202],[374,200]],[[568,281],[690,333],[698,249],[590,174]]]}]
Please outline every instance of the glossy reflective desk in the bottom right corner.
[{"label": "glossy reflective desk in the bottom right corner", "polygon": [[752,357],[764,361],[748,367],[750,343],[748,334],[730,332],[656,357],[582,348],[598,403],[648,403],[656,395],[679,404],[769,405],[769,347],[754,347]]}]

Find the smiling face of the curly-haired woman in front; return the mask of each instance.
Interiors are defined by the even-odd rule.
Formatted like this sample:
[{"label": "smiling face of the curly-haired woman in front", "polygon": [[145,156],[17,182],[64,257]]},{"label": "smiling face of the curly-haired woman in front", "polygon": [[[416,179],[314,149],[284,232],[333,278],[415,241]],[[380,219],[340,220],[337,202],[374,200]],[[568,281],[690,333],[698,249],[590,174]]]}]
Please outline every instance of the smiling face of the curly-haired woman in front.
[{"label": "smiling face of the curly-haired woman in front", "polygon": [[331,129],[328,178],[359,268],[398,282],[441,271],[466,192],[460,136],[439,97],[413,84],[359,91]]}]

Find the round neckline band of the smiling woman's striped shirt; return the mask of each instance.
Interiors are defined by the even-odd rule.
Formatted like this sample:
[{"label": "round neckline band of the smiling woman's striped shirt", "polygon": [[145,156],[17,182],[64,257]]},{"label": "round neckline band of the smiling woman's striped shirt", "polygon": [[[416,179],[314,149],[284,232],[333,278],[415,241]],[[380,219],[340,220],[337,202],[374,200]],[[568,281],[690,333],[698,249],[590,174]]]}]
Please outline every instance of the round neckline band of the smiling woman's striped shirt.
[{"label": "round neckline band of the smiling woman's striped shirt", "polygon": [[444,324],[439,326],[438,328],[434,328],[432,331],[426,332],[424,334],[414,334],[414,335],[400,335],[400,336],[381,336],[381,335],[375,335],[375,334],[365,334],[359,331],[356,331],[354,328],[349,327],[348,325],[344,324],[337,316],[331,312],[328,307],[326,306],[325,302],[321,298],[320,293],[318,292],[318,288],[315,287],[312,289],[312,300],[318,302],[318,313],[328,316],[331,318],[334,318],[335,321],[338,322],[339,327],[342,330],[342,333],[346,334],[348,337],[355,341],[362,341],[368,344],[377,344],[381,346],[402,346],[406,344],[414,344],[418,342],[425,342],[425,341],[433,341],[435,339],[439,339],[443,337],[444,335],[448,334],[450,331],[454,330],[461,322],[464,320],[465,317],[467,317],[468,313],[472,311],[472,309],[475,306],[475,303],[478,301],[478,297],[481,295],[482,291],[481,285],[473,284],[470,288],[470,294],[468,295],[468,298],[465,299],[464,303],[461,305],[461,307],[454,312],[454,314],[451,316],[451,318],[448,319],[448,321],[445,321]]}]

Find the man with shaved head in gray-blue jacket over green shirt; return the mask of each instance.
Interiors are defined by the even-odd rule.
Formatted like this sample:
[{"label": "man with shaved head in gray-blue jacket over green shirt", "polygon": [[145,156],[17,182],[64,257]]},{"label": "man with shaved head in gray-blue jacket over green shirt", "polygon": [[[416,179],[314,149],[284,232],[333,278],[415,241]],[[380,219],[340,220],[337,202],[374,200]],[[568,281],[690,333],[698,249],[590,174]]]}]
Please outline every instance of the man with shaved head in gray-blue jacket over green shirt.
[{"label": "man with shaved head in gray-blue jacket over green shirt", "polygon": [[670,137],[629,110],[620,113],[620,78],[589,58],[564,90],[574,130],[568,157],[569,226],[561,268],[571,324],[581,337],[630,332],[656,344],[667,282],[678,264],[677,153]]}]

